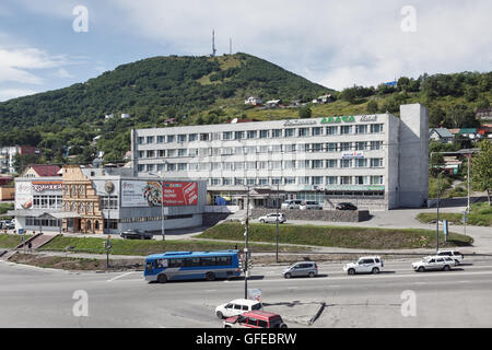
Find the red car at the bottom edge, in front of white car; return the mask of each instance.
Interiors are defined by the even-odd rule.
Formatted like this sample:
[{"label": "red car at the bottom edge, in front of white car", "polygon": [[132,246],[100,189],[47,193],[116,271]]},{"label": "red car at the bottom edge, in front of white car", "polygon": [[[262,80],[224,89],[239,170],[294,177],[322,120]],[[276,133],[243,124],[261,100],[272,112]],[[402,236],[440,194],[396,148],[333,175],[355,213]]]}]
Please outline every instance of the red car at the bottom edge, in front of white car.
[{"label": "red car at the bottom edge, in front of white car", "polygon": [[279,314],[251,311],[224,320],[224,328],[288,328]]}]

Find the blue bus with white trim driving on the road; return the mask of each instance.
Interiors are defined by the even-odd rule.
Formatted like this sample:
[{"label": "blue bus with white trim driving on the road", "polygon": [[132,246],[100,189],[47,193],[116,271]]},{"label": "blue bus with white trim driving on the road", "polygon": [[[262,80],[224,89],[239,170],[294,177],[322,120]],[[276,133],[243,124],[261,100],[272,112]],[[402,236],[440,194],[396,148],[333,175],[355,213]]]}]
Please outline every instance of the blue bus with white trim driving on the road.
[{"label": "blue bus with white trim driving on the road", "polygon": [[241,276],[239,250],[166,252],[145,258],[147,281],[231,278]]}]

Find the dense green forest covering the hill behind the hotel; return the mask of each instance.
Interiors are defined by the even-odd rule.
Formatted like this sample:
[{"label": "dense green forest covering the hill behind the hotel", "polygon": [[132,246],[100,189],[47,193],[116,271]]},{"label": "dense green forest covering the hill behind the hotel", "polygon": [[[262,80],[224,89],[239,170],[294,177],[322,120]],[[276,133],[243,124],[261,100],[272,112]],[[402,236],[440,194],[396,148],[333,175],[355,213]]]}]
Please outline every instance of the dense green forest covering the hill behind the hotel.
[{"label": "dense green forest covering the hill behind the hotel", "polygon": [[[311,102],[331,93],[335,102],[295,109],[247,106],[250,95]],[[224,122],[227,119],[318,117],[339,114],[398,115],[399,105],[419,102],[430,108],[431,127],[476,127],[478,107],[492,101],[492,72],[402,77],[395,86],[352,86],[341,92],[315,84],[260,58],[154,57],[117,67],[85,83],[0,103],[0,144],[43,149],[40,162],[90,163],[121,160],[130,149],[131,128]],[[120,114],[130,118],[121,119]],[[106,119],[105,115],[114,114]],[[95,137],[99,138],[94,140]]]}]

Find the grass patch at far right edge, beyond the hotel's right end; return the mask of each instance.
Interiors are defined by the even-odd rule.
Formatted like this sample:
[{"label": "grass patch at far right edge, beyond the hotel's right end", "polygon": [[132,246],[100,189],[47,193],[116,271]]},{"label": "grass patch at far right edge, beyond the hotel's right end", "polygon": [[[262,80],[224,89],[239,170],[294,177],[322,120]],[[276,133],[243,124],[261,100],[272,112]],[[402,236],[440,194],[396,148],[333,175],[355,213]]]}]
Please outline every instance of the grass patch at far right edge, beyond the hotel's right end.
[{"label": "grass patch at far right edge, beyond the hotel's right end", "polygon": [[[437,213],[419,213],[417,220],[422,223],[433,223],[437,219]],[[455,225],[462,224],[462,213],[440,213],[440,220],[447,220]],[[492,226],[492,207],[487,202],[471,205],[470,213],[468,214],[468,225],[475,226]]]}]

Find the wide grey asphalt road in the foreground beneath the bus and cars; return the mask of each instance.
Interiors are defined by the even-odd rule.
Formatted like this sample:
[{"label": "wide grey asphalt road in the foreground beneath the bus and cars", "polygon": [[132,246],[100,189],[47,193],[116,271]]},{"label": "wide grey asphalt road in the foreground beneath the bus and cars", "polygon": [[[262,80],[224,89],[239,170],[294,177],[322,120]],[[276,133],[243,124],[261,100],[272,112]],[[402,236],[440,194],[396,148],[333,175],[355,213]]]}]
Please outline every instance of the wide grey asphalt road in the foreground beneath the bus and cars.
[{"label": "wide grey asphalt road in the foreground beneath the bus and cars", "polygon": [[[466,257],[452,271],[423,273],[411,269],[413,260],[386,261],[382,273],[360,276],[345,275],[340,264],[318,264],[313,279],[283,279],[283,266],[256,267],[248,288],[261,289],[265,310],[280,313],[290,328],[492,326],[491,257]],[[142,272],[4,261],[0,281],[0,327],[216,328],[215,306],[243,298],[245,289],[243,279],[159,284],[145,282]],[[309,326],[321,303],[326,307]]]}]

